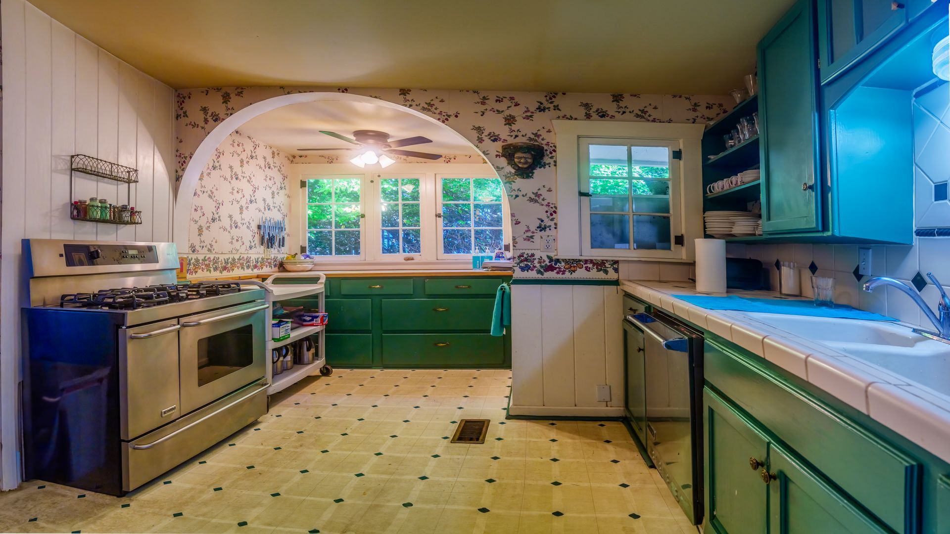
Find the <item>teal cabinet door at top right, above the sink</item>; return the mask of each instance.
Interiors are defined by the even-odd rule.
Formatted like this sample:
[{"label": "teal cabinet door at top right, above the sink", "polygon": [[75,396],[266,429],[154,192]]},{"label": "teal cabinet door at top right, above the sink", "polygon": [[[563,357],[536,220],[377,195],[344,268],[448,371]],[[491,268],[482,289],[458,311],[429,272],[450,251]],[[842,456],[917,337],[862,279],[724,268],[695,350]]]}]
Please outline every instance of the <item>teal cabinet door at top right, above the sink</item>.
[{"label": "teal cabinet door at top right, above the sink", "polygon": [[881,45],[907,24],[906,0],[818,0],[822,82]]}]

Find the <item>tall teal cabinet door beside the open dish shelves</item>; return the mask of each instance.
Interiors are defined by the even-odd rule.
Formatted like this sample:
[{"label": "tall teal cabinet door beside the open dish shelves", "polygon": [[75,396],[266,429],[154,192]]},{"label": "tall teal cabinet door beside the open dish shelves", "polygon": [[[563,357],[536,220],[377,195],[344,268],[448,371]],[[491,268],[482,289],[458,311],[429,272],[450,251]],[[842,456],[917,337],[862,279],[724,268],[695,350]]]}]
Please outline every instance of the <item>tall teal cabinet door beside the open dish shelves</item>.
[{"label": "tall teal cabinet door beside the open dish shelves", "polygon": [[762,228],[821,229],[814,16],[800,0],[758,46]]}]

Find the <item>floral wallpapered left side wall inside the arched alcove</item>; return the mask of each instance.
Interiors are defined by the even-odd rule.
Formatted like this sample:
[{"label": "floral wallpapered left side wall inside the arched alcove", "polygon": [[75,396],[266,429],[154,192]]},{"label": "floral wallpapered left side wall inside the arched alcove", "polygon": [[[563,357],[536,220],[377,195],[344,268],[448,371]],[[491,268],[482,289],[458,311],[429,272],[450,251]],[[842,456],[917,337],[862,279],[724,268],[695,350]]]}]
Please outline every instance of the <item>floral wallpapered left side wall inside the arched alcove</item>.
[{"label": "floral wallpapered left side wall inside the arched alcove", "polygon": [[[201,170],[188,221],[188,275],[211,277],[273,271],[286,247],[265,257],[260,219],[290,213],[283,152],[235,131]],[[269,255],[266,255],[269,256]]]}]

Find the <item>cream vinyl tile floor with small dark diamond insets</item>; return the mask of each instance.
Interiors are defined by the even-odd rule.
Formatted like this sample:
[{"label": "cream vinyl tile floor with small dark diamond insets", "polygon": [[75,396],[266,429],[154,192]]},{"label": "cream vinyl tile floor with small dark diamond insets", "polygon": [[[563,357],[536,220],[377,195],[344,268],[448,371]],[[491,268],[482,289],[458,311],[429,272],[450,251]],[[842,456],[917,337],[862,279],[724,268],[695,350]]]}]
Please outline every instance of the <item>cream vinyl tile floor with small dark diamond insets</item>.
[{"label": "cream vinyl tile floor with small dark diamond insets", "polygon": [[[3,532],[675,533],[695,527],[616,421],[505,420],[508,370],[340,370],[112,497],[29,481]],[[490,419],[484,445],[452,444]]]}]

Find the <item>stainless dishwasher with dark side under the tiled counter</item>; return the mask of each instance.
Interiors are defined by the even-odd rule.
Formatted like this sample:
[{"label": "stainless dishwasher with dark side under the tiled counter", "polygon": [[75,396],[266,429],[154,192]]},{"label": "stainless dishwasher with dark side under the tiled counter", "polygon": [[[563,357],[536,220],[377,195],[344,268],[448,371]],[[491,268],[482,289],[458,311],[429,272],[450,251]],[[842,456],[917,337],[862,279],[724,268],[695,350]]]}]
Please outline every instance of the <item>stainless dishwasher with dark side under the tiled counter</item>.
[{"label": "stainless dishwasher with dark side under the tiled counter", "polygon": [[703,517],[703,335],[661,312],[626,315],[627,413],[693,524]]}]

